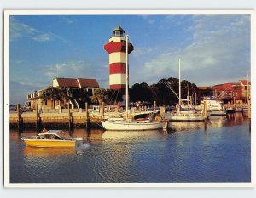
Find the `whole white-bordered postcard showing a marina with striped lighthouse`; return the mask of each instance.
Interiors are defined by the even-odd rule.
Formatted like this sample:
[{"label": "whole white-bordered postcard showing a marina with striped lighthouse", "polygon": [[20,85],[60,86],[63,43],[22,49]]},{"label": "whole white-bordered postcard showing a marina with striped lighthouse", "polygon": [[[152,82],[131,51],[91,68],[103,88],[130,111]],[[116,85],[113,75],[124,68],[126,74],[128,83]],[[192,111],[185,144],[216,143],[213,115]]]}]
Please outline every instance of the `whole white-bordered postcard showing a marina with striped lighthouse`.
[{"label": "whole white-bordered postcard showing a marina with striped lighthouse", "polygon": [[9,14],[7,185],[253,183],[252,16]]}]

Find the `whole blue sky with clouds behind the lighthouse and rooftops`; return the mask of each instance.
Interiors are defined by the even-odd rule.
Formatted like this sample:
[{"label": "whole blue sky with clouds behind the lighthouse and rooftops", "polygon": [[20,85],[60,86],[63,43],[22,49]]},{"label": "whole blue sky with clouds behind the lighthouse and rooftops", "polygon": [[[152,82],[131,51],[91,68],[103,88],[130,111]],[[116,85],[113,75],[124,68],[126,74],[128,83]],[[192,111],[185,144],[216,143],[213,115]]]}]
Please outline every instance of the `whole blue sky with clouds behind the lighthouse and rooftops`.
[{"label": "whole blue sky with clouds behind the lighthouse and rooftops", "polygon": [[130,85],[181,78],[197,86],[238,82],[250,70],[250,15],[12,15],[10,104],[52,85],[55,77],[95,78],[109,88],[103,46],[120,25],[134,51]]}]

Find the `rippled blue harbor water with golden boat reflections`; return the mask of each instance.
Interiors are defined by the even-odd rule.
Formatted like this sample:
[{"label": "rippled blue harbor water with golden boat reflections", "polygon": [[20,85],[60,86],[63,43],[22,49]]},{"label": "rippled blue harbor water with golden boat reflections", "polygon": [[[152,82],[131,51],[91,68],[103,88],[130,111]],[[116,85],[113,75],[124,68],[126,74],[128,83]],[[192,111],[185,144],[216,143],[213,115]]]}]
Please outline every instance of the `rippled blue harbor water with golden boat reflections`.
[{"label": "rippled blue harbor water with golden boat reflections", "polygon": [[[66,130],[68,133],[68,130]],[[75,129],[75,148],[32,148],[10,131],[10,183],[251,182],[250,122],[242,113],[170,122],[167,131]]]}]

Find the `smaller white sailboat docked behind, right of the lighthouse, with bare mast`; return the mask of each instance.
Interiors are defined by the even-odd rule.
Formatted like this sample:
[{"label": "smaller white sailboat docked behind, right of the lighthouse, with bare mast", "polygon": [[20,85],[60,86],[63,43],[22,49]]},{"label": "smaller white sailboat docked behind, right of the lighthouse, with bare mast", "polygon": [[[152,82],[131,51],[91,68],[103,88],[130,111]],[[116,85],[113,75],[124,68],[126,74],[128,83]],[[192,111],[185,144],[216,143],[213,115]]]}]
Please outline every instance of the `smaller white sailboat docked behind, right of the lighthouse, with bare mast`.
[{"label": "smaller white sailboat docked behind, right of the lighthouse, with bare mast", "polygon": [[194,109],[184,110],[182,108],[181,99],[181,72],[180,72],[180,59],[178,59],[178,72],[179,72],[179,89],[178,89],[178,104],[176,112],[166,114],[166,120],[176,122],[176,121],[204,121],[206,116],[203,113],[197,113]]}]

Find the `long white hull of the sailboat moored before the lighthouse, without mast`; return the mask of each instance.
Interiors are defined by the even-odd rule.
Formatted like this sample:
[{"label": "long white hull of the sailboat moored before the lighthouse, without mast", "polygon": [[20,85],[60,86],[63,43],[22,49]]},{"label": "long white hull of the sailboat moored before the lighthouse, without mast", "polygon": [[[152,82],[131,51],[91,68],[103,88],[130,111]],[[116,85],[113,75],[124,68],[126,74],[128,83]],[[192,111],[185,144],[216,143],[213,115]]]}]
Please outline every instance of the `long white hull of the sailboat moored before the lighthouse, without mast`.
[{"label": "long white hull of the sailboat moored before the lighthouse, without mast", "polygon": [[164,127],[164,122],[124,122],[124,121],[102,121],[106,130],[114,131],[141,131],[154,130]]}]

